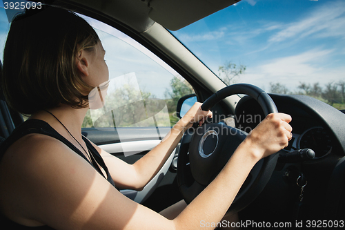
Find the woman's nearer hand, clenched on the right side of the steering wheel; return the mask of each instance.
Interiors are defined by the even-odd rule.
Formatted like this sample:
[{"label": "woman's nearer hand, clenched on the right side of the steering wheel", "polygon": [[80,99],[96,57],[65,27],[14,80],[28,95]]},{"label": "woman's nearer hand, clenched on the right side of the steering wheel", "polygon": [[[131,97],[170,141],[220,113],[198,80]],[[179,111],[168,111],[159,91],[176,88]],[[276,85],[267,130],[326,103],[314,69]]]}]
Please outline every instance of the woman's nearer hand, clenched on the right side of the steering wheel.
[{"label": "woman's nearer hand, clenched on the right side of the steering wheel", "polygon": [[259,159],[277,153],[288,146],[288,141],[291,140],[293,128],[288,124],[291,119],[285,113],[270,113],[250,131],[243,144],[252,149],[250,152]]}]

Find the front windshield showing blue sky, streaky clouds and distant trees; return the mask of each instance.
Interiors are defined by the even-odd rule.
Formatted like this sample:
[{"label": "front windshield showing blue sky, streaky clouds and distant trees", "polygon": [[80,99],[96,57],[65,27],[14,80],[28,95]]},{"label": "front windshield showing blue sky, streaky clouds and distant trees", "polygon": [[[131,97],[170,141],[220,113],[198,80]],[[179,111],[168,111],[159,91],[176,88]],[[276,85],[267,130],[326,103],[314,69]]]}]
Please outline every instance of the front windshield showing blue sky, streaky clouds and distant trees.
[{"label": "front windshield showing blue sky, streaky clouds and distant trees", "polygon": [[345,1],[242,0],[171,32],[226,84],[345,108]]}]

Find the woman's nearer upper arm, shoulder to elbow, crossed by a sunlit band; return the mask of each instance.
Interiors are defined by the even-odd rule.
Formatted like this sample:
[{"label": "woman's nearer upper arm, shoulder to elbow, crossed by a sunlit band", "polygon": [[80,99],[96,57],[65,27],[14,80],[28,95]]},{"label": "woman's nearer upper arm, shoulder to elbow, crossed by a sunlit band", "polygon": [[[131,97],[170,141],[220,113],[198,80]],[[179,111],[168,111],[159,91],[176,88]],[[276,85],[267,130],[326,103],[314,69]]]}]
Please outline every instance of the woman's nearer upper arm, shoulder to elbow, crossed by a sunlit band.
[{"label": "woman's nearer upper arm, shoulder to elbow, crossed by a sunlit band", "polygon": [[[0,207],[19,224],[54,229],[172,229],[58,140],[28,135],[0,164]],[[126,207],[126,208],[124,208]]]}]

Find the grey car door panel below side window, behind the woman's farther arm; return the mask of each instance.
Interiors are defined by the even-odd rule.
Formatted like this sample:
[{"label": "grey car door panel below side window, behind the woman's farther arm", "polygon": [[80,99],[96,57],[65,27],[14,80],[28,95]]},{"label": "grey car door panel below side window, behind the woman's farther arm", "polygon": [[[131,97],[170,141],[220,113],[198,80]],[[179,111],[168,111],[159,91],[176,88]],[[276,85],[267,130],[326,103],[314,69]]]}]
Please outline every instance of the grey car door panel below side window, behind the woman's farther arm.
[{"label": "grey car door panel below side window, behind the woman's farther arm", "polygon": [[[124,136],[121,135],[121,139],[117,133],[117,128],[83,128],[82,131],[83,135],[88,137],[89,140],[97,144],[104,151],[119,157],[128,164],[133,164],[161,142],[157,135],[157,128],[155,127],[122,129],[128,133]],[[170,127],[159,128],[159,131],[164,137],[168,131],[170,131]],[[126,132],[121,132],[121,134]],[[175,150],[172,151],[164,166],[162,166],[155,177],[146,184],[142,191],[123,189],[120,190],[120,192],[135,202],[142,203],[146,201],[168,173],[174,157]],[[175,175],[173,176],[175,177]]]}]

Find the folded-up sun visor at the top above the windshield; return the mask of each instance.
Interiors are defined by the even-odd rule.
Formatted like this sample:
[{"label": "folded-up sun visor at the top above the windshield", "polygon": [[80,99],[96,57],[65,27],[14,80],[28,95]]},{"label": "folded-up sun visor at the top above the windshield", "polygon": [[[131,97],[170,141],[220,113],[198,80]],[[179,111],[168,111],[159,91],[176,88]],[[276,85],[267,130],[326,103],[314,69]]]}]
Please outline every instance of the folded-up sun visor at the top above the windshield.
[{"label": "folded-up sun visor at the top above the windshield", "polygon": [[[238,0],[239,1],[239,0]],[[149,17],[168,30],[179,30],[231,6],[236,0],[151,0]]]}]

